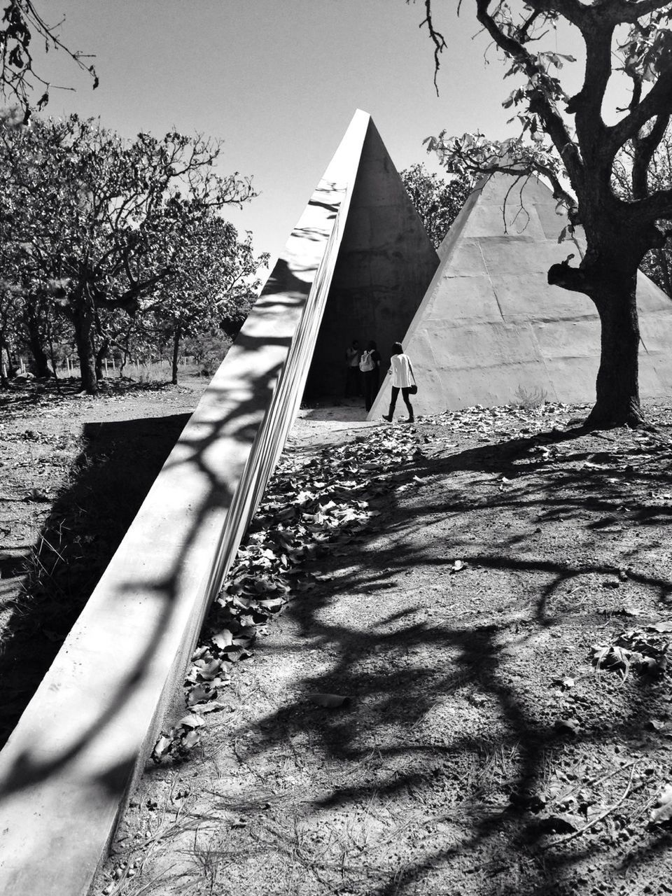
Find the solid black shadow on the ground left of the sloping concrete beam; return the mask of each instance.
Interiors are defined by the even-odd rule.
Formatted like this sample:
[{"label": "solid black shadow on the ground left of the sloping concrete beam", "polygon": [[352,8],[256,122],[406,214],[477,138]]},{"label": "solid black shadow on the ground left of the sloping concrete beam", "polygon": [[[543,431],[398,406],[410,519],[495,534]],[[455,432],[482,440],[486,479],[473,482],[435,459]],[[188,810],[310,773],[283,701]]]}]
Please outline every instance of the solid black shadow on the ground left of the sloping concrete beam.
[{"label": "solid black shadow on the ground left of the sloping concrete beam", "polygon": [[[37,543],[14,564],[22,594],[0,655],[0,746],[45,676],[65,636],[119,547],[189,414],[82,427],[73,479],[58,495]],[[8,575],[6,569],[3,576]]]}]

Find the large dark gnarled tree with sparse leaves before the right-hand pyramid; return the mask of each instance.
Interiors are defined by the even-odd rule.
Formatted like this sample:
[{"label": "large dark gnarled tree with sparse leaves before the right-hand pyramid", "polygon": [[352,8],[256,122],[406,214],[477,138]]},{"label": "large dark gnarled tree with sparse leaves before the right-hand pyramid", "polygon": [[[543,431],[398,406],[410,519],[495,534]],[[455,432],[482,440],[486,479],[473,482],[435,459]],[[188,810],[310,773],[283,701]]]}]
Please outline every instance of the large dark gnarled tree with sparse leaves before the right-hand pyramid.
[{"label": "large dark gnarled tree with sparse leaves before the right-hand pyramid", "polygon": [[[436,30],[436,3],[424,0],[435,62],[447,49]],[[467,4],[461,4],[462,8]],[[596,402],[589,423],[642,422],[638,383],[639,325],[636,275],[642,258],[665,245],[661,222],[672,219],[672,189],[650,182],[650,163],[672,114],[672,3],[663,0],[470,0],[476,20],[504,53],[506,75],[520,79],[504,106],[517,110],[522,134],[501,143],[480,134],[431,138],[447,170],[511,171],[546,176],[567,207],[570,226],[581,225],[587,251],[554,264],[548,281],[582,292],[597,308],[601,326]],[[559,22],[582,36],[586,64],[581,90],[568,96],[561,70],[572,56],[543,48]],[[625,109],[607,124],[607,86],[614,71],[630,83]],[[633,147],[632,199],[615,188],[614,168],[626,144]],[[569,187],[565,189],[564,180]]]}]

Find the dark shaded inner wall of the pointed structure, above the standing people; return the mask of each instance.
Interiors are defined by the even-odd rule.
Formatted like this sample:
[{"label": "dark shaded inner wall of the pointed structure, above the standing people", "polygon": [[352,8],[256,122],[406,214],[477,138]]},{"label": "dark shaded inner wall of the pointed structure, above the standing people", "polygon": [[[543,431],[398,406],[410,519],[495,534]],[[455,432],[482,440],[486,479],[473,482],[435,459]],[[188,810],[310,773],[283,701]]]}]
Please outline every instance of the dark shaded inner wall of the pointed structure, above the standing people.
[{"label": "dark shaded inner wall of the pointed structure, above the standing people", "polygon": [[422,221],[372,121],[359,161],[332,289],[306,387],[342,395],[345,349],[375,340],[389,364],[439,263]]}]

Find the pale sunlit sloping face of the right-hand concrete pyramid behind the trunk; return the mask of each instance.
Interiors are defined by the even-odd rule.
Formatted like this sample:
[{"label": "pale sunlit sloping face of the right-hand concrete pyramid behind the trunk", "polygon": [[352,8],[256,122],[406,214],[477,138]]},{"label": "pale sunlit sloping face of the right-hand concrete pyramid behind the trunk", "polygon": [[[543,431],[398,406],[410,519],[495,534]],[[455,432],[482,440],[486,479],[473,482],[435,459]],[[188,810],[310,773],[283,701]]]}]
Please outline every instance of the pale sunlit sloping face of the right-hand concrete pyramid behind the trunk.
[{"label": "pale sunlit sloping face of the right-hand concrete pyramid behind the trunk", "polygon": [[[417,413],[516,401],[593,401],[599,318],[588,297],[547,283],[551,264],[581,256],[558,244],[564,215],[546,185],[497,174],[471,194],[439,248],[403,346],[418,378]],[[640,275],[642,397],[672,387],[672,302]],[[386,412],[389,379],[370,418]],[[398,413],[403,412],[401,404]]]}]

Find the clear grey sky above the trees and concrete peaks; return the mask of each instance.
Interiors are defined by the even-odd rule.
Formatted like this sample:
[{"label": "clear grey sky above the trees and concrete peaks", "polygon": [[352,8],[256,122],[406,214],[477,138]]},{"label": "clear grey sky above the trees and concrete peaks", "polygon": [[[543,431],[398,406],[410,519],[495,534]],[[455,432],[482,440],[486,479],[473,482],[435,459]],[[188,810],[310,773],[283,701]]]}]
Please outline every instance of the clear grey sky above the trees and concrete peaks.
[{"label": "clear grey sky above the trees and concrete peaks", "polygon": [[62,38],[95,54],[100,79],[91,90],[50,53],[49,77],[76,91],[52,90],[46,114],[100,116],[128,137],[176,127],[222,138],[222,172],[254,176],[260,193],[228,217],[275,256],[356,108],[400,169],[436,169],[422,141],[444,128],[515,133],[501,106],[514,85],[484,36],[473,39],[471,4],[460,18],[454,0],[435,6],[450,47],[439,97],[420,0],[39,0],[50,22],[65,14]]}]

